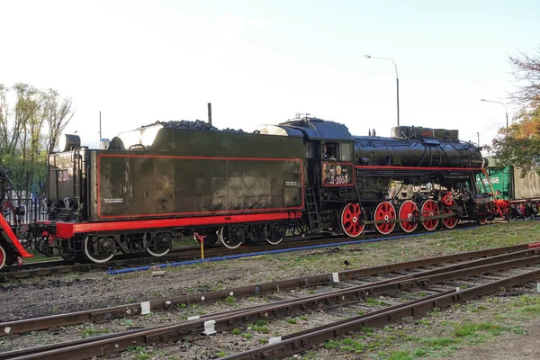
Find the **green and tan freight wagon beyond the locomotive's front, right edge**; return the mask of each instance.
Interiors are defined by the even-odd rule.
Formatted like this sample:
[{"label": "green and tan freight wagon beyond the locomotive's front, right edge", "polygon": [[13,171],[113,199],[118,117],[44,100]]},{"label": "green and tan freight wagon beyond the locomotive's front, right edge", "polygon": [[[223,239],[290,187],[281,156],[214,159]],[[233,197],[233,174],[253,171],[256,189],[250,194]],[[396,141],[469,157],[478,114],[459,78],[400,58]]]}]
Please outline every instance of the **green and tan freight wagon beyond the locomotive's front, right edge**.
[{"label": "green and tan freight wagon beyond the locomotive's front, right edge", "polygon": [[486,175],[477,176],[477,183],[493,199],[491,218],[505,217],[507,220],[535,217],[540,210],[540,175],[529,172],[521,176],[515,166],[499,166],[497,159],[486,157],[490,166]]}]

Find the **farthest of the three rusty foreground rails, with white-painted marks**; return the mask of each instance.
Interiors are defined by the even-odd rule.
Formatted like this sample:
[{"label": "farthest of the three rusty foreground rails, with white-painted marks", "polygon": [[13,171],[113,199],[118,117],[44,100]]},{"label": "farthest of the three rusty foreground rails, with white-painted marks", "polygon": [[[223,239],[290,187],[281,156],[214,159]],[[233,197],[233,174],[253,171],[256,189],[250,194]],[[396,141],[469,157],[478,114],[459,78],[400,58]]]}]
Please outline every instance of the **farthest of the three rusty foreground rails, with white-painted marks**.
[{"label": "farthest of the three rusty foreground rails, with white-painted marks", "polygon": [[[441,257],[428,257],[419,260],[412,260],[404,263],[388,264],[383,266],[372,266],[361,269],[345,270],[338,273],[324,274],[324,275],[312,275],[308,277],[299,277],[294,279],[282,280],[272,283],[255,284],[248,286],[241,286],[232,289],[225,289],[214,292],[197,293],[190,295],[176,296],[172,298],[166,298],[162,300],[154,300],[151,302],[139,302],[130,303],[120,306],[114,306],[103,309],[93,309],[88,311],[77,311],[72,313],[58,314],[47,317],[14,320],[9,322],[0,323],[0,336],[8,334],[22,334],[25,332],[42,330],[42,329],[54,329],[69,325],[76,325],[83,322],[104,322],[121,318],[130,318],[140,315],[143,312],[143,308],[149,312],[157,311],[169,311],[175,309],[179,304],[191,305],[193,303],[210,303],[218,300],[223,300],[228,296],[235,297],[247,297],[255,296],[264,293],[273,293],[278,290],[296,289],[307,286],[318,286],[331,284],[338,281],[347,281],[355,279],[361,276],[369,276],[381,273],[391,273],[392,271],[406,270],[410,268],[418,268],[421,266],[430,266],[436,264],[442,264],[447,262],[470,260],[476,257],[488,257],[487,259],[476,260],[477,262],[469,262],[456,266],[467,266],[466,264],[480,264],[478,261],[494,261],[495,257],[507,254],[505,258],[513,258],[520,256],[527,256],[528,247],[530,244],[521,244],[510,247],[495,247],[491,249],[478,250],[473,252],[457,253],[452,255],[445,255]],[[524,255],[520,255],[524,254]],[[428,273],[418,274],[436,274],[439,271],[443,271],[446,267],[440,269],[429,270]],[[457,268],[457,267],[455,267]],[[414,275],[402,276],[402,279],[410,278]],[[390,280],[388,280],[390,281]],[[379,282],[383,284],[385,281]]]}]

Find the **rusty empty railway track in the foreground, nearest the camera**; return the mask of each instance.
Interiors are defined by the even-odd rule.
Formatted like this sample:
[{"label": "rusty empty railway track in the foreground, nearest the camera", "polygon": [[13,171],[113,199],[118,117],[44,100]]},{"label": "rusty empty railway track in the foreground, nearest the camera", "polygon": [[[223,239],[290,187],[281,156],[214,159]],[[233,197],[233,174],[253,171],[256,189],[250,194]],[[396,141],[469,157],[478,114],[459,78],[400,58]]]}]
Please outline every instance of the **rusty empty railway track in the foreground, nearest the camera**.
[{"label": "rusty empty railway track in the foreground, nearest the camera", "polygon": [[[33,347],[0,354],[0,359],[85,359],[120,352],[128,347],[167,343],[181,338],[207,341],[213,334],[248,324],[271,322],[314,311],[337,314],[324,326],[281,337],[269,338],[269,345],[247,352],[227,351],[229,359],[290,356],[338,338],[362,327],[381,326],[455,302],[464,302],[501,288],[510,288],[540,278],[540,244],[492,248],[482,251],[433,257],[406,263],[347,270],[340,273],[257,284],[219,292],[199,293],[160,301],[130,304],[96,311],[81,311],[36,320],[0,324],[8,333],[67,326],[88,320],[112,320],[145,312],[172,311],[178,304],[210,303],[225,297],[273,293],[274,302],[244,309],[195,316],[187,321],[150,329],[135,329],[85,338],[46,347]],[[311,288],[312,293],[287,296],[287,289]],[[281,291],[281,293],[279,293]],[[289,297],[289,299],[287,299]],[[384,299],[383,301],[374,299]],[[375,304],[375,306],[374,306]],[[353,312],[351,312],[351,310]],[[362,310],[362,315],[358,315]],[[204,334],[198,337],[194,334]],[[197,338],[198,337],[198,338]],[[230,349],[229,349],[230,350]]]}]

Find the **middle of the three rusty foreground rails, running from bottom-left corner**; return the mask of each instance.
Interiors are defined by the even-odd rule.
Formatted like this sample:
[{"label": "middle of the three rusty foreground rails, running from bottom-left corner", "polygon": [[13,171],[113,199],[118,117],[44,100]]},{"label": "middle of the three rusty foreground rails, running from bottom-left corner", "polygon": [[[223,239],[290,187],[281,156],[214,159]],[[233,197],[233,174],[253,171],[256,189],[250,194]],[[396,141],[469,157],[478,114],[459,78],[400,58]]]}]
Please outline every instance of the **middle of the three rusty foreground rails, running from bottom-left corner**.
[{"label": "middle of the three rusty foreground rails, running from bottom-left corner", "polygon": [[[279,304],[270,304],[268,306],[257,306],[255,308],[247,308],[244,310],[233,311],[226,313],[224,316],[211,315],[204,319],[191,320],[182,324],[168,325],[154,329],[141,329],[137,333],[119,333],[116,336],[107,336],[99,338],[89,338],[84,340],[76,340],[74,343],[62,343],[56,346],[34,347],[27,350],[19,350],[15,355],[12,353],[4,353],[4,358],[16,359],[54,359],[61,356],[63,359],[85,359],[94,356],[104,356],[111,352],[118,352],[132,346],[146,345],[150,343],[172,341],[178,338],[192,335],[195,332],[201,332],[210,335],[215,332],[220,332],[232,329],[238,326],[246,325],[257,320],[274,320],[285,316],[291,316],[297,312],[309,312],[320,308],[329,308],[333,306],[343,306],[347,303],[357,302],[361,299],[374,296],[381,293],[393,293],[400,290],[410,289],[412,287],[425,286],[435,284],[442,281],[448,281],[464,276],[475,276],[509,269],[518,266],[527,266],[540,263],[540,256],[532,256],[508,260],[501,263],[473,266],[471,268],[443,272],[437,275],[420,276],[417,279],[405,279],[400,281],[390,282],[388,284],[379,284],[374,286],[360,285],[347,289],[338,290],[332,293],[324,293],[313,295],[302,299],[293,299],[284,301]],[[450,266],[452,267],[452,266]],[[536,273],[540,274],[540,270]],[[495,282],[500,283],[501,281]],[[466,292],[466,291],[465,291]],[[464,292],[464,293],[465,293]],[[452,296],[455,296],[452,294]],[[437,300],[432,301],[437,304]],[[420,302],[421,304],[425,302]],[[430,302],[431,303],[431,302]],[[221,313],[222,314],[222,313]],[[211,319],[211,320],[207,320]],[[71,344],[71,345],[69,345]],[[52,348],[51,347],[55,347]],[[23,356],[21,355],[23,352]],[[16,356],[16,357],[13,357]]]}]

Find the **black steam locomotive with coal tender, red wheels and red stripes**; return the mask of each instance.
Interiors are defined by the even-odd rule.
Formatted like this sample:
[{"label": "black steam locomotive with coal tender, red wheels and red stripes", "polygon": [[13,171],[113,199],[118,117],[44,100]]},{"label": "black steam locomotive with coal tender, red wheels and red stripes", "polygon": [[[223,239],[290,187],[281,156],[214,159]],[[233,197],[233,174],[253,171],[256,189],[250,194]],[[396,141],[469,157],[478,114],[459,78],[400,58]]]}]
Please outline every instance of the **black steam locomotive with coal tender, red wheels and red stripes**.
[{"label": "black steam locomotive with coal tender, red wheels and red stripes", "polygon": [[107,149],[69,135],[65,151],[49,154],[49,220],[31,231],[67,260],[102,263],[117,253],[163,256],[182,235],[235,248],[485,222],[479,148],[456,130],[401,126],[392,135],[354,137],[311,117],[252,133],[154,125]]}]

